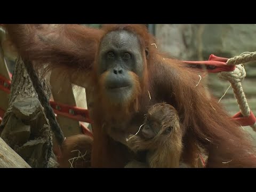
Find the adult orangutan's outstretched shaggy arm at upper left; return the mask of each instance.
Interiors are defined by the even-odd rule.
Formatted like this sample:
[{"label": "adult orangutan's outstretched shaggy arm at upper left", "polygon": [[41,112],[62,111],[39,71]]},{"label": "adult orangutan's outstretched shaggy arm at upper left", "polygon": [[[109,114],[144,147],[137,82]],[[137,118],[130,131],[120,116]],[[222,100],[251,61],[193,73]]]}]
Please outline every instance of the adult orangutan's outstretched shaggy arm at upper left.
[{"label": "adult orangutan's outstretched shaggy arm at upper left", "polygon": [[102,30],[79,25],[7,24],[4,27],[22,59],[36,61],[35,67],[44,66],[45,72],[58,68],[63,74],[91,70],[102,36]]}]

